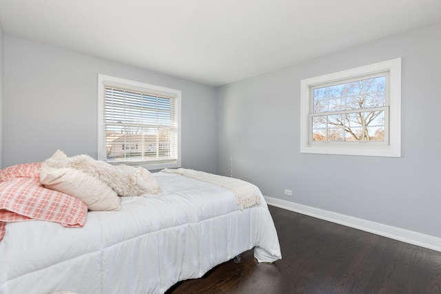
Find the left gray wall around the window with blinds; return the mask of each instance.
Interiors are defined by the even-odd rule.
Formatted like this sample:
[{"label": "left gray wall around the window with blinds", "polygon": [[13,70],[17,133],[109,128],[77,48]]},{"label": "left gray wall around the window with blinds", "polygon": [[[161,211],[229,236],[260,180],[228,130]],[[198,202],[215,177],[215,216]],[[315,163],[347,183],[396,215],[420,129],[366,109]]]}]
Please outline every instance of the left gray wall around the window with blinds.
[{"label": "left gray wall around the window with blinds", "polygon": [[[0,46],[1,47],[1,46]],[[182,91],[182,166],[216,171],[216,89],[4,35],[4,166],[97,156],[97,74]]]}]

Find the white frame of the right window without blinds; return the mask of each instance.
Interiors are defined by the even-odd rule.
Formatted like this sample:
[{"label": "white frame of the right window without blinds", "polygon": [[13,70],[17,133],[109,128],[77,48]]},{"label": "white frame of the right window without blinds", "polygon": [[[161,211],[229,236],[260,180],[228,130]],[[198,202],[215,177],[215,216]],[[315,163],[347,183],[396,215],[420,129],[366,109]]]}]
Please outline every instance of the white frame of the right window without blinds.
[{"label": "white frame of the right window without blinds", "polygon": [[[389,120],[385,123],[385,134],[389,134],[386,143],[378,142],[312,142],[311,90],[318,85],[337,84],[339,81],[387,72]],[[401,58],[380,63],[356,67],[300,81],[300,153],[338,154],[355,156],[401,156]]]}]

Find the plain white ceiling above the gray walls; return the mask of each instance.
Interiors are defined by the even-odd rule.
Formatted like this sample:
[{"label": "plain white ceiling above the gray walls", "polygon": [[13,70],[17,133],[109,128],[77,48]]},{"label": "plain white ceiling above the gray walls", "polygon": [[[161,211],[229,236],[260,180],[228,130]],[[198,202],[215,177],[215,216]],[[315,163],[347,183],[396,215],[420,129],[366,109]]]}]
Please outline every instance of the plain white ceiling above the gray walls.
[{"label": "plain white ceiling above the gray walls", "polygon": [[224,85],[441,21],[441,0],[0,0],[3,32]]}]

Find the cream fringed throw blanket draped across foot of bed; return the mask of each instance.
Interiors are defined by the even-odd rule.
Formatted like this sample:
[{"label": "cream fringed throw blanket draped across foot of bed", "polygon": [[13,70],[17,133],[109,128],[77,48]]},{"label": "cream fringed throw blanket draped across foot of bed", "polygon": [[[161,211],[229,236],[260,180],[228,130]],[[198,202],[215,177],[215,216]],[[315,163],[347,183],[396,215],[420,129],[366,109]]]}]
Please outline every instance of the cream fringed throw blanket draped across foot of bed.
[{"label": "cream fringed throw blanket draped across foot of bed", "polygon": [[189,178],[195,178],[196,180],[210,182],[220,187],[225,187],[234,193],[240,209],[251,207],[254,204],[260,204],[260,190],[255,185],[245,182],[245,180],[208,174],[193,169],[163,169],[162,171],[169,174],[180,174]]}]

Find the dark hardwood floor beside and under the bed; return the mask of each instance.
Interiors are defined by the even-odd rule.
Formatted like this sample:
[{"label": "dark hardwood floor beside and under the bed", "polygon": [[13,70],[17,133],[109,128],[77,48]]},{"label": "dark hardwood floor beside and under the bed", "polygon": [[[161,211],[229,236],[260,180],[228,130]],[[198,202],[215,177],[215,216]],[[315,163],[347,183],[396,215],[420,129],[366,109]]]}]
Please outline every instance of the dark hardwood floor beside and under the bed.
[{"label": "dark hardwood floor beside and under the bed", "polygon": [[253,251],[179,282],[178,293],[441,293],[441,253],[269,207],[282,260],[258,263]]}]

